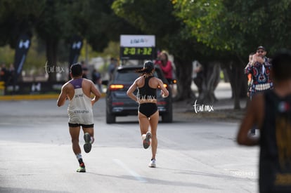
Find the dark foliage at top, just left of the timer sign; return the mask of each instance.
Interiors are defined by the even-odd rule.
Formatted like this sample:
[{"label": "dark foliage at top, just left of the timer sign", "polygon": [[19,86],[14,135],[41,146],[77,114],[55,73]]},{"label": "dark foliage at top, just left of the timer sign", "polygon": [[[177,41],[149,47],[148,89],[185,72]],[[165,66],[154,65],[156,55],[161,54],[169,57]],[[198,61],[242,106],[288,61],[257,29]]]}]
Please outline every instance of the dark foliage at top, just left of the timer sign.
[{"label": "dark foliage at top, just left of the timer sign", "polygon": [[82,1],[82,17],[77,32],[80,32],[94,51],[103,52],[110,41],[119,41],[120,34],[136,33],[135,27],[118,18],[111,9],[110,1]]}]

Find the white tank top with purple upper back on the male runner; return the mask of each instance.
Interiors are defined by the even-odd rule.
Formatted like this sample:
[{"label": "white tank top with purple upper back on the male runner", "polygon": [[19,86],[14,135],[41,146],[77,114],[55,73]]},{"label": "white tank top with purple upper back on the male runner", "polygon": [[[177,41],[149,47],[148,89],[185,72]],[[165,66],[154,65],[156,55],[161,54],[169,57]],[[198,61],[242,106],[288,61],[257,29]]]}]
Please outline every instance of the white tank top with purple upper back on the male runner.
[{"label": "white tank top with purple upper back on the male runner", "polygon": [[70,84],[75,88],[75,95],[67,107],[70,124],[93,124],[93,109],[91,98],[87,97],[82,89],[83,79],[72,79]]}]

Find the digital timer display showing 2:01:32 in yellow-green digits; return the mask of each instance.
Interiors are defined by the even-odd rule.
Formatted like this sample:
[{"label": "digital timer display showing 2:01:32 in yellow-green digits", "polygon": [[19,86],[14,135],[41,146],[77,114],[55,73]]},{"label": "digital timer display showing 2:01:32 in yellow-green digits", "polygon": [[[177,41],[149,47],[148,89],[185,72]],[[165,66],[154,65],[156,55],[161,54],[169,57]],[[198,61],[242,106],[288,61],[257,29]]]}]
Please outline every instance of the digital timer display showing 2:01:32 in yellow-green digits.
[{"label": "digital timer display showing 2:01:32 in yellow-green digits", "polygon": [[132,60],[153,60],[154,47],[120,47],[120,58]]}]

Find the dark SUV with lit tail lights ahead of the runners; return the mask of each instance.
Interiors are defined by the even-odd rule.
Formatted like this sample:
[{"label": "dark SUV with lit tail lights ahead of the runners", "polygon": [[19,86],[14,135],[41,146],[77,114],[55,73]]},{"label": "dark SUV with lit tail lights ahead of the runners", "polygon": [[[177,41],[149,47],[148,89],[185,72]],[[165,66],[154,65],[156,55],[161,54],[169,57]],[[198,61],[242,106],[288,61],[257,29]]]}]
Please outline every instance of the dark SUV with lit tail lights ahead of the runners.
[{"label": "dark SUV with lit tail lights ahead of the runners", "polygon": [[[139,74],[136,69],[142,66],[119,66],[115,69],[112,81],[108,83],[106,91],[106,123],[115,123],[116,117],[137,115],[138,103],[129,98],[127,90],[134,83]],[[162,122],[172,122],[172,93],[169,89],[169,83],[164,78],[164,74],[159,67],[155,67],[154,76],[164,82],[164,86],[169,91],[167,98],[162,98],[160,89],[157,89],[157,108],[159,109]],[[134,91],[136,95],[137,90]]]}]

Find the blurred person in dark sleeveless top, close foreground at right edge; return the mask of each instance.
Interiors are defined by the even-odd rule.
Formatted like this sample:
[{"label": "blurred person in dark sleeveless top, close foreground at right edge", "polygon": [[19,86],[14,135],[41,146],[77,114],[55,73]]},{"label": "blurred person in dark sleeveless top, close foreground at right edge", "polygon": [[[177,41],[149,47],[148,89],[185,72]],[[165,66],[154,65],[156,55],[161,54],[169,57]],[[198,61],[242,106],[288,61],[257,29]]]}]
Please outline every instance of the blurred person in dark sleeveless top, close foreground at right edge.
[{"label": "blurred person in dark sleeveless top, close foreground at right edge", "polygon": [[[291,192],[291,52],[280,51],[272,60],[274,89],[258,93],[240,124],[240,145],[259,145],[259,192]],[[260,138],[248,131],[257,125]]]}]

